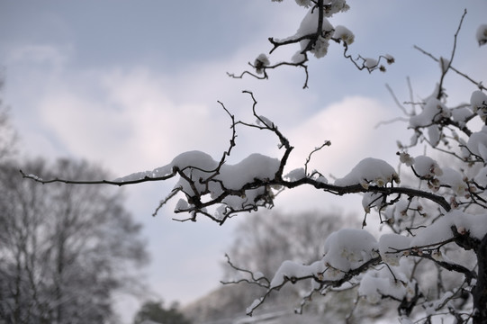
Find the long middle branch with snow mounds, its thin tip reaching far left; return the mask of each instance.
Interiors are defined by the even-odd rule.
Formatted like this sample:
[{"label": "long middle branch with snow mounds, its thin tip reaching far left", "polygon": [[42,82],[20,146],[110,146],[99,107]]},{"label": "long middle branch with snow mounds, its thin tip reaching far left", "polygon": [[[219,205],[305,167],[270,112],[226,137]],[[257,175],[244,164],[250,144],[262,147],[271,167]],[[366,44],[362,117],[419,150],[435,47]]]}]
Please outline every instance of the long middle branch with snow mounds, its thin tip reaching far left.
[{"label": "long middle branch with snow mounds, its thin tip reaching far left", "polygon": [[[307,165],[311,154],[329,146],[329,141],[325,141],[323,145],[311,152],[304,169],[298,172],[299,175],[295,170],[284,174],[284,167],[293,147],[274,122],[257,113],[257,100],[254,94],[248,91],[244,91],[244,93],[249,94],[252,99],[252,112],[257,122],[235,121],[234,116],[221,104],[230,115],[232,135],[230,146],[223,152],[220,160],[215,160],[202,151],[189,151],[178,155],[166,166],[125,175],[114,180],[82,181],[59,178],[44,180],[37,175],[29,175],[21,171],[22,175],[42,184],[61,182],[119,186],[149,181],[166,181],[176,177],[173,191],[160,202],[158,209],[167,201],[175,198],[178,193],[182,193],[183,197],[176,203],[175,212],[188,213],[190,217],[184,220],[196,220],[196,216],[201,214],[220,224],[242,211],[256,211],[261,207],[272,208],[275,195],[283,188],[291,189],[301,185],[311,185],[316,189],[337,195],[375,193],[385,198],[392,194],[404,194],[408,197],[428,199],[439,204],[445,211],[450,210],[450,204],[440,195],[409,187],[394,186],[394,183],[400,183],[399,175],[392,166],[380,159],[365,158],[350,174],[338,179],[335,184],[329,184],[327,179],[316,170],[308,173]],[[279,147],[284,149],[282,156],[277,158],[252,154],[238,164],[229,165],[226,157],[230,156],[232,148],[236,145],[236,127],[238,125],[272,132],[279,140]]]}]

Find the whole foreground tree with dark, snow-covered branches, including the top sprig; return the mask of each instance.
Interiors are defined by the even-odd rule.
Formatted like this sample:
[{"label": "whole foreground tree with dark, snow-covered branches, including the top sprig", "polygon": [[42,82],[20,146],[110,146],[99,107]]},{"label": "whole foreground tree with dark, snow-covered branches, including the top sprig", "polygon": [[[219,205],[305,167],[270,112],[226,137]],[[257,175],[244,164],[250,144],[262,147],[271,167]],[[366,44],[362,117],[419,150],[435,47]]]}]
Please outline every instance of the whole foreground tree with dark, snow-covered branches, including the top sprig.
[{"label": "whole foreground tree with dark, snow-covered branches, including the top sprig", "polygon": [[[345,0],[300,0],[309,7],[298,34],[284,40],[271,39],[275,48],[300,43],[302,48],[293,64],[270,65],[265,56],[259,56],[253,67],[266,78],[269,68],[294,65],[305,68],[308,53],[320,58],[326,54],[329,40],[343,42],[345,56],[353,34],[339,26],[332,26],[325,18],[347,9]],[[239,212],[257,211],[274,206],[275,195],[284,189],[307,185],[324,193],[344,195],[362,193],[365,210],[363,227],[377,215],[377,222],[390,229],[379,239],[365,229],[340,229],[324,242],[324,256],[308,265],[284,261],[272,276],[257,274],[241,268],[254,284],[265,288],[259,298],[248,307],[252,315],[271,294],[289,284],[306,282],[308,293],[302,305],[314,295],[326,295],[338,287],[358,285],[358,293],[368,302],[390,300],[396,303],[402,323],[413,320],[431,323],[434,319],[450,317],[458,323],[487,322],[487,89],[480,80],[454,67],[456,39],[464,20],[462,15],[455,31],[453,49],[448,58],[436,58],[419,49],[439,63],[440,73],[432,94],[421,100],[398,105],[408,121],[406,127],[414,135],[408,144],[401,144],[397,152],[401,163],[419,180],[419,186],[401,184],[399,173],[381,159],[368,157],[359,161],[343,178],[332,183],[324,171],[308,169],[313,153],[330,145],[329,141],[313,150],[302,168],[286,170],[293,146],[277,125],[257,112],[257,99],[245,91],[252,104],[257,121],[236,121],[234,115],[221,103],[230,116],[230,145],[219,159],[200,152],[185,152],[167,166],[153,171],[139,172],[115,180],[79,181],[68,178],[42,180],[41,183],[67,184],[138,184],[176,178],[174,190],[159,205],[181,197],[176,213],[187,213],[183,220],[207,217],[223,224]],[[310,31],[311,30],[311,31]],[[481,38],[479,38],[479,35]],[[477,31],[482,44],[484,32]],[[275,49],[273,48],[273,50]],[[392,58],[384,56],[387,61]],[[349,58],[359,69],[373,70],[378,59]],[[358,62],[358,63],[357,63]],[[379,69],[382,69],[379,67]],[[243,75],[242,75],[243,76]],[[257,76],[257,75],[255,75]],[[472,92],[465,94],[466,103],[451,105],[446,101],[446,77],[461,77],[472,84]],[[305,86],[307,83],[305,83]],[[480,122],[479,122],[480,121]],[[480,124],[480,126],[479,126]],[[236,145],[238,127],[262,130],[275,136],[282,149],[280,157],[253,154],[236,165],[228,165],[227,157]],[[440,163],[432,156],[412,156],[413,148],[426,144],[438,154],[455,157],[461,166]],[[395,152],[394,152],[395,153]],[[406,170],[403,170],[406,172]],[[76,179],[76,178],[75,178]],[[425,209],[429,202],[435,207]],[[467,261],[455,252],[468,255]],[[437,293],[430,294],[419,279],[422,265],[436,267]],[[442,269],[442,270],[440,270]],[[461,279],[447,286],[443,272],[453,272]],[[310,288],[311,287],[311,288]],[[427,286],[428,287],[428,286]],[[428,288],[427,288],[428,289]]]}]

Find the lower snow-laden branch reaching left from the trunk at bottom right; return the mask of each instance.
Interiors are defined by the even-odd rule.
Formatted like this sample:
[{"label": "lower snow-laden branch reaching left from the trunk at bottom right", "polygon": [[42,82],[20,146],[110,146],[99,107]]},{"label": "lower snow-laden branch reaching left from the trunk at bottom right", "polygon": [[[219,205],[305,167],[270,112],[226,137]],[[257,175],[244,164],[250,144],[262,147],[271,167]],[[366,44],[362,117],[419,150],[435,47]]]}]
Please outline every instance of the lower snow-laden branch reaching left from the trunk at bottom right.
[{"label": "lower snow-laden branch reaching left from the trunk at bottom right", "polygon": [[[301,309],[310,302],[313,293],[324,295],[329,293],[330,288],[358,286],[359,295],[369,302],[390,298],[400,302],[399,310],[409,315],[419,298],[424,297],[419,292],[418,283],[408,276],[408,265],[414,260],[429,260],[448,271],[463,274],[467,284],[472,284],[473,279],[477,278],[473,270],[448,260],[442,254],[442,248],[447,244],[461,244],[465,238],[478,240],[476,235],[487,231],[485,225],[482,225],[485,223],[484,218],[471,220],[467,229],[463,226],[457,228],[452,224],[464,220],[452,212],[437,225],[419,231],[415,238],[384,234],[379,241],[365,229],[340,229],[325,240],[324,256],[321,259],[310,265],[284,261],[272,279],[235,266],[230,257],[226,256],[228,264],[248,278],[222,284],[246,282],[266,288],[266,293],[248,306],[248,315],[252,315],[272,293],[279,291],[284,285],[300,282],[308,283],[310,287],[310,291],[304,294]],[[475,229],[477,226],[482,229]],[[459,233],[458,229],[463,229],[464,232]],[[439,233],[442,235],[438,236]],[[441,309],[445,304],[439,306],[436,303],[436,306]]]}]

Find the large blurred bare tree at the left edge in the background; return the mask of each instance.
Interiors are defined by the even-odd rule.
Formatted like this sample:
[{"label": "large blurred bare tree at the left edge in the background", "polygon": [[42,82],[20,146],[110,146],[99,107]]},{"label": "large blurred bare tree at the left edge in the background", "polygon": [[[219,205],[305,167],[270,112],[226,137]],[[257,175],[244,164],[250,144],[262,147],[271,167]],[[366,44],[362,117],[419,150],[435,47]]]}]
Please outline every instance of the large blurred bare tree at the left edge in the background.
[{"label": "large blurred bare tree at the left edge in the background", "polygon": [[[113,293],[136,292],[134,266],[148,260],[140,225],[109,188],[19,183],[18,166],[0,166],[0,317],[6,323],[104,323]],[[93,178],[86,162],[38,159],[40,174]]]}]

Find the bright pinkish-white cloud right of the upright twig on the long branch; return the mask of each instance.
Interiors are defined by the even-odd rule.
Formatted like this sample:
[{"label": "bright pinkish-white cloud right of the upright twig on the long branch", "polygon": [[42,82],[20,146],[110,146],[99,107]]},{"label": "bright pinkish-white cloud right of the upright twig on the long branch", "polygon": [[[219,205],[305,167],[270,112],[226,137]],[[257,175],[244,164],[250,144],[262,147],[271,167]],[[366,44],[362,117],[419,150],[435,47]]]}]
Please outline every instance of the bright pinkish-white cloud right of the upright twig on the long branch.
[{"label": "bright pinkish-white cloud right of the upright twig on the long branch", "polygon": [[[325,140],[330,140],[331,146],[322,148],[311,159],[311,166],[324,174],[342,176],[364,157],[385,158],[401,134],[387,127],[375,129],[375,126],[390,118],[390,110],[373,98],[349,96],[332,103],[289,132],[289,139],[296,147],[290,162],[303,164],[311,150]],[[384,143],[387,138],[392,140]]]}]

